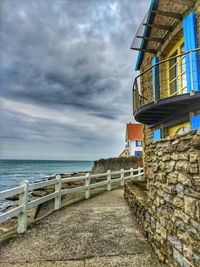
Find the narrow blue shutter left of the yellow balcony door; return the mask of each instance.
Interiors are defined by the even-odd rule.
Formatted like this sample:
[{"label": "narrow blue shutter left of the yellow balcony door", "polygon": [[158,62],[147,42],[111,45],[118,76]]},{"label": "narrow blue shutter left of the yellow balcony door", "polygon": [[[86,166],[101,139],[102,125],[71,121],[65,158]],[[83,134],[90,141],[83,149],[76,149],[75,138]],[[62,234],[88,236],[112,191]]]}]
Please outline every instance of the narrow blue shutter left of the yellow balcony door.
[{"label": "narrow blue shutter left of the yellow balcony door", "polygon": [[[159,62],[158,57],[154,57],[152,60],[152,65]],[[155,100],[160,99],[160,79],[159,79],[159,65],[152,68],[152,93]]]}]

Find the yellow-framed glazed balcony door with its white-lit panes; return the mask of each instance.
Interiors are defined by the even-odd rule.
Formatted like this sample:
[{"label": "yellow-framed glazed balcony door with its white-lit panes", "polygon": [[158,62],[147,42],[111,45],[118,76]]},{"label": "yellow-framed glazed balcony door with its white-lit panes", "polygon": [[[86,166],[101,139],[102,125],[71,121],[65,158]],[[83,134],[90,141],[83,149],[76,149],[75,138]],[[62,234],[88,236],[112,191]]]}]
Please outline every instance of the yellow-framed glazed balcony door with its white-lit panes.
[{"label": "yellow-framed glazed balcony door with its white-lit panes", "polygon": [[187,93],[186,62],[185,56],[179,56],[184,52],[183,38],[173,47],[168,54],[172,58],[168,62],[168,95]]}]

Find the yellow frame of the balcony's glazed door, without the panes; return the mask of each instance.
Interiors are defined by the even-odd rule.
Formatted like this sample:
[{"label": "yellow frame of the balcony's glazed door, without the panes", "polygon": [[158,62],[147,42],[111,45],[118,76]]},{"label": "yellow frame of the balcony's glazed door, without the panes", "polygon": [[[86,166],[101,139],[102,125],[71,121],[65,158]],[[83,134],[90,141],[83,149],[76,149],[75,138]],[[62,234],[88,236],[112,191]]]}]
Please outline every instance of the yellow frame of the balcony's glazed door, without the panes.
[{"label": "yellow frame of the balcony's glazed door, without the panes", "polygon": [[[176,45],[170,50],[170,52],[167,54],[167,58],[170,58],[173,56],[173,54],[177,51],[177,56],[180,55],[182,53],[181,48],[184,45],[184,38],[182,37],[177,43]],[[182,71],[182,60],[183,60],[184,56],[177,57],[177,62],[170,67],[170,61],[167,62],[167,87],[168,87],[168,96],[174,96],[177,94],[183,94],[183,90],[186,88],[183,85],[183,81],[182,81],[182,76],[184,75],[185,72]],[[178,66],[178,73],[176,75],[176,77],[172,80],[170,80],[170,70],[175,67]],[[174,82],[175,80],[178,80],[178,90],[171,94],[170,92],[170,84],[172,82]]]}]

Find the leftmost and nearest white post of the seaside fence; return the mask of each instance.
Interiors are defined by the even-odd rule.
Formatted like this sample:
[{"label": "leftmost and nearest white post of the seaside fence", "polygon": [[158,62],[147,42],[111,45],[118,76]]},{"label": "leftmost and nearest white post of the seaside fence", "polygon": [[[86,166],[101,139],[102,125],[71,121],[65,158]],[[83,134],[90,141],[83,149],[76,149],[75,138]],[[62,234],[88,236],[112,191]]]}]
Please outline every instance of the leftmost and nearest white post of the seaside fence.
[{"label": "leftmost and nearest white post of the seaside fence", "polygon": [[20,186],[24,187],[24,192],[19,195],[19,206],[23,206],[23,211],[18,216],[17,233],[21,234],[26,232],[28,224],[28,186],[27,180],[22,181]]}]

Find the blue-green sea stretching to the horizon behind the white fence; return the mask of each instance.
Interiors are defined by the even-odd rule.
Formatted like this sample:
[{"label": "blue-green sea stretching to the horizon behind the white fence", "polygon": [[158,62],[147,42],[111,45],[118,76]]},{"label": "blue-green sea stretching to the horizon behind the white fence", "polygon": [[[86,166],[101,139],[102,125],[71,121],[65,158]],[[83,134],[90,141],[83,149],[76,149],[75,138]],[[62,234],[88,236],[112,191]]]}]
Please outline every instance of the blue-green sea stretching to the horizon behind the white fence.
[{"label": "blue-green sea stretching to the horizon behind the white fence", "polygon": [[[19,186],[20,181],[36,182],[60,173],[90,171],[93,161],[71,160],[0,160],[0,191]],[[0,211],[8,201],[0,201]]]}]

